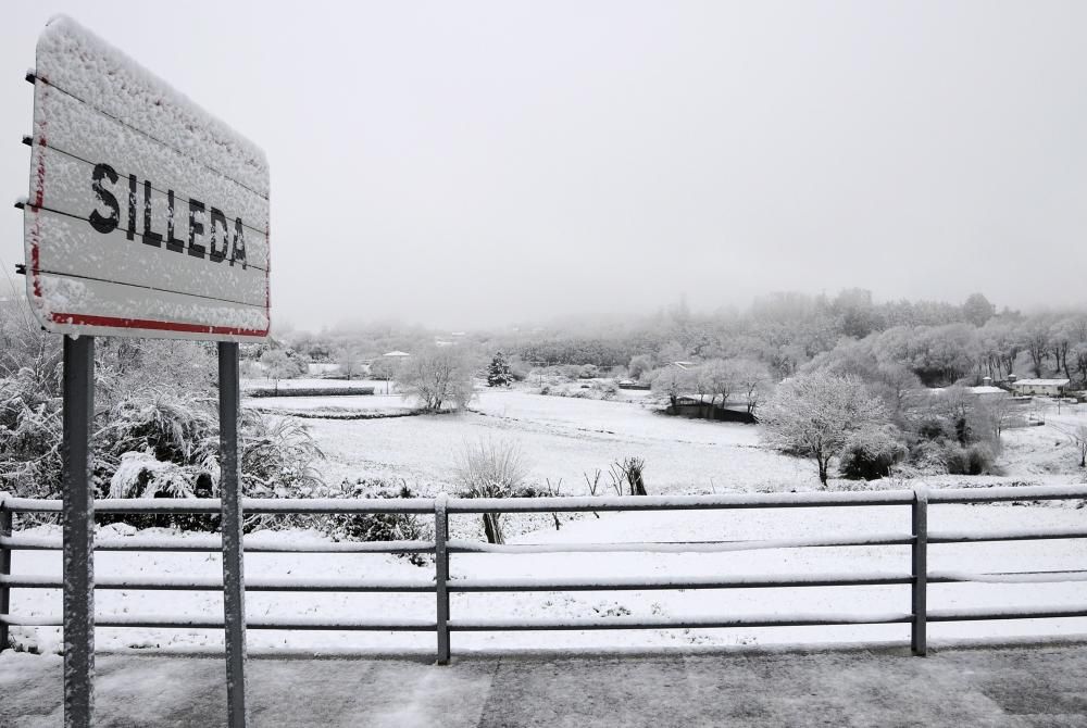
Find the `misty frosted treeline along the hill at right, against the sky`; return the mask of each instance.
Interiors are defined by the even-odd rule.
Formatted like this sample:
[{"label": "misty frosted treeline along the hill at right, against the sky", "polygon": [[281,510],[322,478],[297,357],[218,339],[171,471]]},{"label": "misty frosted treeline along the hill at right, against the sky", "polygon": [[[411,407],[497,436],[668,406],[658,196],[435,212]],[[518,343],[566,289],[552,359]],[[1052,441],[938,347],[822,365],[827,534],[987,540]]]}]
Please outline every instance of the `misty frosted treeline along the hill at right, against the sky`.
[{"label": "misty frosted treeline along the hill at right, against the sky", "polygon": [[742,313],[695,315],[678,306],[608,331],[517,334],[500,348],[536,365],[625,365],[632,375],[671,362],[742,359],[783,379],[854,342],[882,362],[907,366],[928,387],[1000,380],[1013,372],[1087,382],[1087,314],[998,314],[980,293],[961,305],[874,303],[861,289],[833,299],[782,293]]}]

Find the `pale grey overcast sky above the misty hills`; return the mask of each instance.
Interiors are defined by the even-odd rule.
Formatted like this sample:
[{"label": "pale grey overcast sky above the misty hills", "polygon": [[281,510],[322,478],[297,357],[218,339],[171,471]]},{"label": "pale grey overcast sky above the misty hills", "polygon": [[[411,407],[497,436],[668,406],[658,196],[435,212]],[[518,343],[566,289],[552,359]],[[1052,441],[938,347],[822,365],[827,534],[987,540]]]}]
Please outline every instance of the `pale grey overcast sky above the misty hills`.
[{"label": "pale grey overcast sky above the misty hills", "polygon": [[[851,286],[1087,302],[1084,2],[22,4],[9,202],[54,12],[267,151],[273,317],[298,327]],[[22,239],[10,210],[7,271]]]}]

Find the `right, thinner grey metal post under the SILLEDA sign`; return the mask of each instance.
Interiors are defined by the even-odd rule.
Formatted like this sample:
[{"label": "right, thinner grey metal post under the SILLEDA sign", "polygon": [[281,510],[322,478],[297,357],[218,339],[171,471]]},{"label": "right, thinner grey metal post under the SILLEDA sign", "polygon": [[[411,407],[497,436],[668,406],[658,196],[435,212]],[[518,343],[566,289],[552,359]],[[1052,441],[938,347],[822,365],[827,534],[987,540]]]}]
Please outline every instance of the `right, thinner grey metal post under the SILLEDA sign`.
[{"label": "right, thinner grey metal post under the SILLEDA sign", "polygon": [[241,463],[238,344],[218,344],[218,442],[223,525],[223,620],[226,626],[226,701],[230,728],[246,725],[246,585],[241,548]]}]

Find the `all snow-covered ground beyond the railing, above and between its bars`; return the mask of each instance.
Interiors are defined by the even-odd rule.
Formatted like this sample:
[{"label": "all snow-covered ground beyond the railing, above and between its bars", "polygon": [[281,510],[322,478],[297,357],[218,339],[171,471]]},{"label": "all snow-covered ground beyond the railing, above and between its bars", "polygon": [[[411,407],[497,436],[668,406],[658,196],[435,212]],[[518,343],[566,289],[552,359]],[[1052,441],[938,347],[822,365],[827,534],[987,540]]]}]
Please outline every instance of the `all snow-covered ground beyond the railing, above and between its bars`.
[{"label": "all snow-covered ground beyond the railing, above and between its bars", "polygon": [[[287,399],[287,398],[285,398]],[[311,398],[289,398],[292,406],[305,406]],[[367,403],[399,398],[312,398],[314,406],[338,406],[343,400]],[[264,404],[264,400],[252,403]],[[1055,413],[1045,413],[1052,418]],[[1087,418],[1080,409],[1062,407],[1060,417]],[[1062,422],[1064,422],[1062,419]],[[809,461],[786,457],[763,448],[757,427],[666,417],[645,402],[608,402],[541,397],[524,391],[485,390],[459,414],[421,415],[392,419],[307,419],[328,460],[321,465],[329,481],[339,478],[384,476],[403,478],[421,494],[452,490],[452,470],[465,443],[480,438],[518,443],[530,464],[530,479],[540,484],[562,480],[562,494],[586,492],[583,474],[627,456],[646,460],[646,481],[653,494],[707,493],[712,491],[813,490],[817,485]],[[1075,448],[1051,426],[1009,430],[1000,460],[1000,477],[927,478],[936,487],[985,486],[998,482],[1029,485],[1083,482]],[[849,484],[849,487],[912,487],[914,481],[891,480]],[[607,477],[600,494],[611,494]],[[846,487],[847,481],[835,484]],[[1087,510],[1076,504],[1046,505],[936,505],[930,528],[998,530],[1027,527],[1078,527]],[[458,538],[479,538],[477,517],[453,516]],[[114,534],[124,529],[111,527]],[[536,530],[533,530],[536,529]],[[48,531],[42,527],[41,531]],[[909,511],[902,506],[819,510],[746,510],[734,512],[679,512],[584,514],[564,519],[555,530],[546,514],[536,518],[511,518],[507,534],[512,542],[571,544],[623,541],[703,541],[721,539],[816,538],[827,535],[905,535]],[[184,537],[180,537],[184,538]],[[259,539],[321,539],[315,534],[288,531],[258,535]],[[1050,540],[997,544],[933,545],[929,569],[967,574],[1082,569],[1087,564],[1087,541]],[[709,576],[894,572],[909,568],[905,547],[822,548],[808,550],[760,550],[730,553],[554,553],[532,555],[458,554],[454,578],[514,577],[620,577]],[[16,574],[60,573],[55,553],[17,552]],[[157,575],[212,578],[220,573],[215,554],[115,553],[98,555],[100,576]],[[250,578],[358,578],[417,579],[430,581],[433,567],[412,566],[405,560],[359,554],[261,554],[247,555]],[[168,598],[165,595],[168,594]],[[930,585],[929,606],[1087,606],[1087,582]],[[280,594],[252,592],[247,597],[252,617],[320,616],[368,617],[396,615],[433,619],[432,594]],[[124,592],[103,590],[98,595],[102,614],[185,614],[215,617],[221,598],[213,592]],[[55,591],[15,590],[12,611],[33,616],[60,610]],[[607,618],[630,615],[711,616],[784,615],[788,613],[904,613],[910,610],[909,588],[848,587],[750,590],[688,590],[644,592],[485,593],[454,594],[453,617],[461,618]],[[1007,637],[1016,635],[1070,635],[1087,632],[1087,619],[1008,620],[933,624],[940,637]],[[58,647],[54,628],[17,628],[16,641],[43,651]],[[662,647],[697,644],[769,644],[775,642],[837,642],[894,640],[908,637],[905,626],[849,626],[759,628],[732,630],[653,630],[641,633],[510,632],[457,633],[454,649],[485,650],[563,647]],[[110,649],[215,647],[222,637],[215,630],[117,630],[99,631],[101,647]],[[278,632],[253,631],[257,649],[432,649],[432,633],[382,632]]]}]

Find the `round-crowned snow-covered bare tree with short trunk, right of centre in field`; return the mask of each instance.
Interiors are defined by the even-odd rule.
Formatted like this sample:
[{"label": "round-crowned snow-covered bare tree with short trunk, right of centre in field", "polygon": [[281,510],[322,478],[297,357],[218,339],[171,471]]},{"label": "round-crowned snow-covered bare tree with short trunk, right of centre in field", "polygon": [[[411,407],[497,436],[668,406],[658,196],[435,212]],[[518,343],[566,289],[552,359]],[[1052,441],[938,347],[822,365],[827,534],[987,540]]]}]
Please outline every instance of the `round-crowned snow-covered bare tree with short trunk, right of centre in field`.
[{"label": "round-crowned snow-covered bare tree with short trunk, right of centre in field", "polygon": [[825,488],[830,459],[853,432],[886,424],[887,415],[855,377],[815,372],[783,381],[760,423],[770,444],[815,460]]}]

